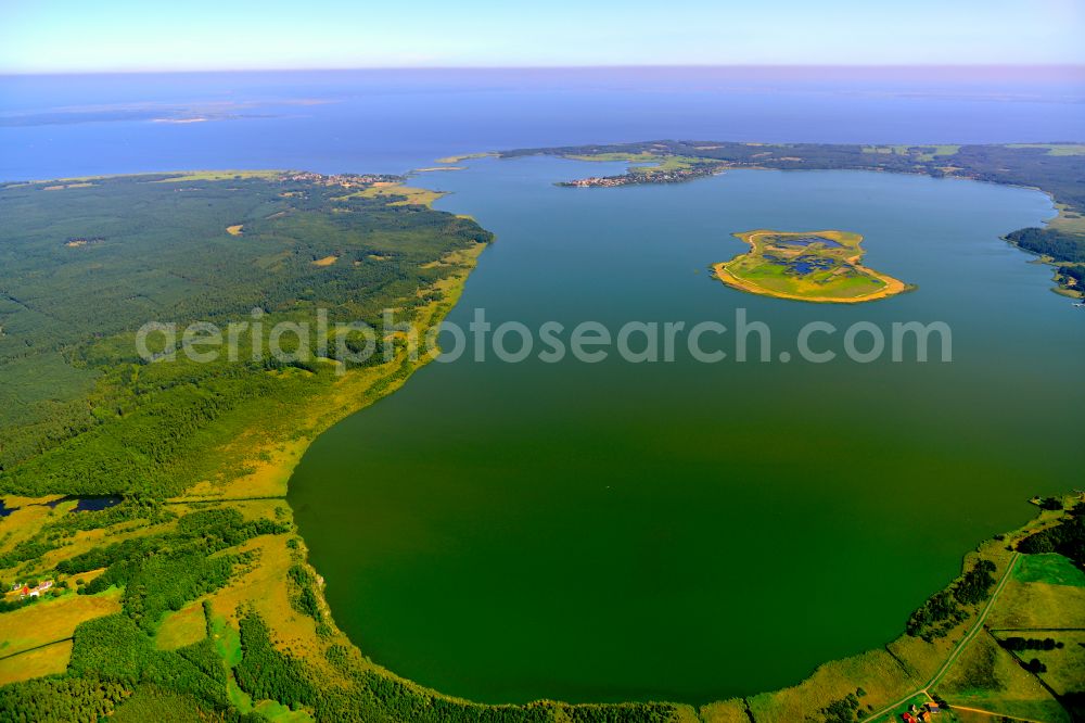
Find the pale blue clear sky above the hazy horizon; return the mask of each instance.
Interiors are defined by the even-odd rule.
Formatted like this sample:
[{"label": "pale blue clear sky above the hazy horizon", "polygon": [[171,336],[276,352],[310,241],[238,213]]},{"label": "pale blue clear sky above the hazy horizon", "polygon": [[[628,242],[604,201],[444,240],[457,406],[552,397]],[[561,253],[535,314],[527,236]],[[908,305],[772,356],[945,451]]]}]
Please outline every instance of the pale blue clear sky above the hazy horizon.
[{"label": "pale blue clear sky above the hazy horizon", "polygon": [[1085,0],[0,0],[0,73],[1085,64]]}]

